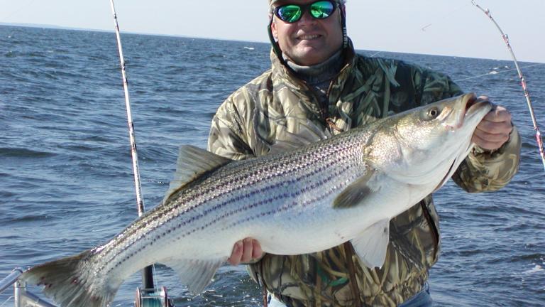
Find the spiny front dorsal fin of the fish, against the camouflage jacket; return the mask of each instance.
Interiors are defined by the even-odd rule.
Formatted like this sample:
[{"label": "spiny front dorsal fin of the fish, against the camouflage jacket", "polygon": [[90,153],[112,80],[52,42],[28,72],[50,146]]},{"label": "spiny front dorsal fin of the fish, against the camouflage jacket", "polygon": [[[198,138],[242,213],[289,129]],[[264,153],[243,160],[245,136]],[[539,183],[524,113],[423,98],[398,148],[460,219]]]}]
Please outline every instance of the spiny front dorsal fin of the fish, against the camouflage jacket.
[{"label": "spiny front dorsal fin of the fish, against the camouflage jacket", "polygon": [[299,122],[297,129],[294,129],[294,131],[288,131],[286,126],[281,126],[276,131],[275,144],[270,146],[268,154],[290,151],[330,137],[331,133],[328,130],[321,128],[309,119],[306,122]]}]

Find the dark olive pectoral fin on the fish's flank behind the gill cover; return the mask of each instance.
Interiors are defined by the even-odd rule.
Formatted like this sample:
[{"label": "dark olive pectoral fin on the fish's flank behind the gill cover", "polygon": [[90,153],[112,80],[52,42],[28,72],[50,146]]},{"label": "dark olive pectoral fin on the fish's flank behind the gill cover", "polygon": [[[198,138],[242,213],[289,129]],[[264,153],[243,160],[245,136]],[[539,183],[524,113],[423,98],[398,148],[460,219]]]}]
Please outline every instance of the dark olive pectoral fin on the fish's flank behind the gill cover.
[{"label": "dark olive pectoral fin on the fish's flank behind the gill cover", "polygon": [[370,187],[370,181],[374,178],[376,170],[365,168],[365,174],[348,185],[333,201],[333,208],[351,208],[363,203],[363,200],[374,193],[376,188]]}]

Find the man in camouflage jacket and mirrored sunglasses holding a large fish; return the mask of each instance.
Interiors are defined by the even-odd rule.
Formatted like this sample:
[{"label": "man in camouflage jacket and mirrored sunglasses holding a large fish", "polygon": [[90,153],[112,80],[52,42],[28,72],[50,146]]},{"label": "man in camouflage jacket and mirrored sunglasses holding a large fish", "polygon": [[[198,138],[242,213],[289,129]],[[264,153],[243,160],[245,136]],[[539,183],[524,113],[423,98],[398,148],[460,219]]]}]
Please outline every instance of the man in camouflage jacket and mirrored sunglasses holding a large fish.
[{"label": "man in camouflage jacket and mirrored sunglasses holding a large fish", "polygon": [[[332,134],[461,94],[450,78],[397,60],[356,55],[344,0],[269,0],[272,69],[234,92],[211,125],[209,150],[233,159],[268,154],[308,121]],[[473,135],[475,150],[453,175],[468,192],[506,185],[519,163],[511,116],[496,107]],[[429,306],[429,268],[439,255],[431,195],[390,222],[379,269],[361,266],[351,244],[296,256],[237,242],[231,264],[252,261],[253,278],[286,306]],[[272,305],[272,304],[271,304]],[[281,305],[280,305],[281,306]]]}]

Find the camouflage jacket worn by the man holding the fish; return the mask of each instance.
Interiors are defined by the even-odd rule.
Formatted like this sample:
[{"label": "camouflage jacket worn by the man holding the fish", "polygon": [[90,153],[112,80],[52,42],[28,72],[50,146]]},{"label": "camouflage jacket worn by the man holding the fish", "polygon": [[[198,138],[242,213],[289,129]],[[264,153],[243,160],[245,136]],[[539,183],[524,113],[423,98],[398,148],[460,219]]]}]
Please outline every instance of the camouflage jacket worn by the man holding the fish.
[{"label": "camouflage jacket worn by the man holding the fish", "polygon": [[[297,134],[307,120],[337,134],[380,117],[461,94],[446,75],[398,60],[365,58],[344,51],[346,65],[329,87],[328,105],[280,64],[244,85],[219,107],[209,151],[233,159],[268,154],[286,131]],[[519,164],[514,129],[499,150],[473,151],[453,180],[466,191],[497,190]],[[314,254],[265,254],[249,267],[254,279],[287,306],[397,306],[422,289],[440,246],[439,217],[431,195],[390,222],[390,244],[381,269],[358,264],[350,244]]]}]

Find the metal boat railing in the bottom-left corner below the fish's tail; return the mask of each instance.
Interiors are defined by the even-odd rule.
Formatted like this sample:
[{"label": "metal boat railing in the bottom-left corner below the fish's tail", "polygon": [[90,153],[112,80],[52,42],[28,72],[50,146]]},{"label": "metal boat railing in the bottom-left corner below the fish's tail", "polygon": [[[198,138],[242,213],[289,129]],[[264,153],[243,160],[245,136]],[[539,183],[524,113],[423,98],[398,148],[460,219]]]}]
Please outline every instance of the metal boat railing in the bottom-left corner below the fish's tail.
[{"label": "metal boat railing in the bottom-left corner below the fish's tail", "polygon": [[[26,282],[19,280],[25,270],[19,267],[13,269],[6,278],[0,281],[0,293],[13,285],[13,301],[15,307],[57,307],[26,289]],[[2,305],[3,306],[3,305]]]}]

